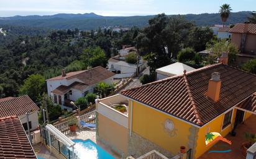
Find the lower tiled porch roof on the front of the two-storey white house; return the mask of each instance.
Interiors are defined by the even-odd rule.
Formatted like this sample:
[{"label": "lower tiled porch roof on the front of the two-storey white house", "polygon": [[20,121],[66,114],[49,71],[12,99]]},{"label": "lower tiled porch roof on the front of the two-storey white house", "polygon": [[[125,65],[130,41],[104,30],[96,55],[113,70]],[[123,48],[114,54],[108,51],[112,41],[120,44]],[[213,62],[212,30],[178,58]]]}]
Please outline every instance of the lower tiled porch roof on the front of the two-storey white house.
[{"label": "lower tiled porch roof on the front of the two-storey white house", "polygon": [[57,95],[63,95],[66,92],[68,92],[71,88],[76,90],[84,90],[88,85],[83,84],[81,82],[74,82],[73,84],[66,86],[66,85],[60,85],[59,87],[55,88],[55,90],[52,91],[52,93]]}]

